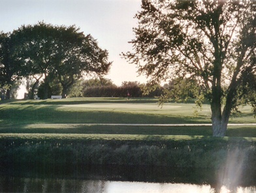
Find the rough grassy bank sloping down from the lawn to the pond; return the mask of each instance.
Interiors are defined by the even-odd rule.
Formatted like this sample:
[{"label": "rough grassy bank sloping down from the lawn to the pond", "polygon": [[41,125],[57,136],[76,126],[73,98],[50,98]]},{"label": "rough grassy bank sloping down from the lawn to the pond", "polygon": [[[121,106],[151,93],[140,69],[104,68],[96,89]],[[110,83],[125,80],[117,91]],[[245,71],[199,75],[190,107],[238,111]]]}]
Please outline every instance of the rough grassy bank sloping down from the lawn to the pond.
[{"label": "rough grassy bank sloping down from the lawn to the pond", "polygon": [[[97,134],[1,134],[2,166],[168,166],[225,168],[232,158],[242,168],[256,164],[255,138]],[[230,158],[229,158],[230,156]]]}]

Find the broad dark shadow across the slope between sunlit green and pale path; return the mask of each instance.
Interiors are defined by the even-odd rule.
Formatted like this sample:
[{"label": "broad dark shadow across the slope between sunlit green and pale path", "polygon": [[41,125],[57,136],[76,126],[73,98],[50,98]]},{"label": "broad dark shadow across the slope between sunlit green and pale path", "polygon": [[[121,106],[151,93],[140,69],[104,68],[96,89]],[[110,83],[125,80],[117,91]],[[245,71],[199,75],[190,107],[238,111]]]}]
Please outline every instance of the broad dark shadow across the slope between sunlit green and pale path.
[{"label": "broad dark shadow across the slope between sunlit green and pale path", "polygon": [[[37,123],[205,123],[206,121],[188,116],[159,115],[150,113],[133,113],[121,111],[71,111],[58,110],[58,105],[47,106],[0,106],[0,120],[2,124],[30,125]],[[1,127],[1,126],[0,126]]]}]

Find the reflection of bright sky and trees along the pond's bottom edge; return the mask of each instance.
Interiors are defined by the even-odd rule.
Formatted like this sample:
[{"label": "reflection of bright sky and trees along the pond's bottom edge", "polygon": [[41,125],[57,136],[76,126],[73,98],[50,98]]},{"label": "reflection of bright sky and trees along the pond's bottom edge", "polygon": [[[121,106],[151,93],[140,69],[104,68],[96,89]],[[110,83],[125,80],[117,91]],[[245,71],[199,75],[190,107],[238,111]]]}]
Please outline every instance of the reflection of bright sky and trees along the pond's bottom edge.
[{"label": "reflection of bright sky and trees along the pond's bottom edge", "polygon": [[[37,179],[1,177],[0,192],[214,193],[216,192],[216,189],[210,185],[191,185],[184,183],[144,183],[82,179]],[[225,186],[222,186],[217,192],[251,193],[256,192],[256,187],[238,186],[236,188],[233,188],[232,190],[229,190]]]}]

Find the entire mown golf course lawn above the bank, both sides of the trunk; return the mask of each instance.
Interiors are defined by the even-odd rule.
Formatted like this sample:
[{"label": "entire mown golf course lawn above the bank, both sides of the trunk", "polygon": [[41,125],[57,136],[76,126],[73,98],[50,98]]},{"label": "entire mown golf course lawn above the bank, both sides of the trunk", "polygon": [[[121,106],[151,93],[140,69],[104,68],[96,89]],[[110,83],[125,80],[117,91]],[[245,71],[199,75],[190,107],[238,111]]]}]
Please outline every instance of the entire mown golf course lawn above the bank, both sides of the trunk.
[{"label": "entire mown golf course lawn above the bank, both sides of the trunk", "polygon": [[[0,105],[1,133],[159,134],[212,136],[211,126],[106,126],[88,123],[187,124],[211,123],[210,106],[194,117],[195,104],[157,104],[155,98],[65,98],[16,100]],[[251,108],[230,123],[255,123]],[[228,136],[256,137],[255,126],[229,126]]]}]

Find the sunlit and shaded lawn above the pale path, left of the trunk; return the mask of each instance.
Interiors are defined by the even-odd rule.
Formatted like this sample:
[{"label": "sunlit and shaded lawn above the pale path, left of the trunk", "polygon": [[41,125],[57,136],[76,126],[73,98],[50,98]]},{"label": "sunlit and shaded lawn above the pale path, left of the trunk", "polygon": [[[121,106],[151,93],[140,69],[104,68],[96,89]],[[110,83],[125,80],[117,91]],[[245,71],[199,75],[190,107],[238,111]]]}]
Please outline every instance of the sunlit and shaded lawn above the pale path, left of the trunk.
[{"label": "sunlit and shaded lawn above the pale path, left of the trunk", "polygon": [[[80,98],[79,98],[80,99]],[[210,111],[193,117],[193,104],[165,104],[125,99],[18,101],[0,106],[3,124],[37,123],[210,123]],[[114,101],[114,102],[111,102]],[[118,103],[117,103],[118,101]],[[59,104],[61,102],[62,104]],[[78,103],[80,104],[74,104]],[[50,103],[50,104],[48,104]],[[56,103],[56,104],[55,104]]]}]

